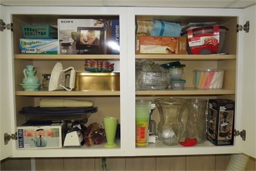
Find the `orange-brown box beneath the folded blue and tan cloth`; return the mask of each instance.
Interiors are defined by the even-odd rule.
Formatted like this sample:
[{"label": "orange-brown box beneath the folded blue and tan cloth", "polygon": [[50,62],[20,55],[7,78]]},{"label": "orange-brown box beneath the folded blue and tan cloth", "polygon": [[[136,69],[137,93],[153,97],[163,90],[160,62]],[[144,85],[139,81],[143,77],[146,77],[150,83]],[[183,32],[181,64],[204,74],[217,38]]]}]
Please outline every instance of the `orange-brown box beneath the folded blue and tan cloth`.
[{"label": "orange-brown box beneath the folded blue and tan cloth", "polygon": [[186,37],[136,36],[136,54],[186,54]]}]

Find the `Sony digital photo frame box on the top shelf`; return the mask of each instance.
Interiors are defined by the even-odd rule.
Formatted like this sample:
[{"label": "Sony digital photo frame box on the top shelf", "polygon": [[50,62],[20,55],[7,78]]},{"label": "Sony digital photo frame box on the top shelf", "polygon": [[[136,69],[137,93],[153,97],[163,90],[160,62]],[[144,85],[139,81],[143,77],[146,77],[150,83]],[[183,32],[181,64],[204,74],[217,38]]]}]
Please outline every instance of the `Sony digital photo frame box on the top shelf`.
[{"label": "Sony digital photo frame box on the top shelf", "polygon": [[58,19],[60,54],[119,54],[119,19]]}]

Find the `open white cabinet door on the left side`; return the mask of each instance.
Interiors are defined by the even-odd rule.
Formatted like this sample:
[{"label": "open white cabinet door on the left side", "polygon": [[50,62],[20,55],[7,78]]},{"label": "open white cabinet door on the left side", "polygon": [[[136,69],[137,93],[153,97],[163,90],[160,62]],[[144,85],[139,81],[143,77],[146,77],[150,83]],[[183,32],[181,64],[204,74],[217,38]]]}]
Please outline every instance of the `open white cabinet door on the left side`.
[{"label": "open white cabinet door on the left side", "polygon": [[[4,23],[8,23],[4,6],[0,6],[0,19]],[[4,144],[4,133],[11,134],[10,126],[10,110],[9,110],[9,90],[8,85],[8,55],[7,51],[11,50],[11,47],[7,47],[6,39],[10,30],[3,30],[0,32],[0,159],[11,156],[11,141],[8,144]]]}]

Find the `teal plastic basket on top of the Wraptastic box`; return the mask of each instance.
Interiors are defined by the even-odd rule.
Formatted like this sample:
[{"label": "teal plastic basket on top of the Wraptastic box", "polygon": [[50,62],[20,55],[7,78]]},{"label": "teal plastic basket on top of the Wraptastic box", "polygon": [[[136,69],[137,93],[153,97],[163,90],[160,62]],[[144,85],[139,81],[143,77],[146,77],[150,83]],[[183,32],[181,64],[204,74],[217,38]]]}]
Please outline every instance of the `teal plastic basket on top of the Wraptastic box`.
[{"label": "teal plastic basket on top of the Wraptastic box", "polygon": [[26,39],[58,39],[58,29],[51,25],[22,25]]}]

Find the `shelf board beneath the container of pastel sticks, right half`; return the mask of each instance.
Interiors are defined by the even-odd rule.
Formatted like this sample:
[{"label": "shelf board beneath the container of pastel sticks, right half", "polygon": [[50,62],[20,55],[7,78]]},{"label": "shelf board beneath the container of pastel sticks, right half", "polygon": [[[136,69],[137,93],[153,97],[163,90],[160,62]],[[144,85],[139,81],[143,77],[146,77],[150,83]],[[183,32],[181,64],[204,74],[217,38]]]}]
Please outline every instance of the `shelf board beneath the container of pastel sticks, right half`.
[{"label": "shelf board beneath the container of pastel sticks, right half", "polygon": [[136,91],[136,95],[233,95],[232,89],[195,89],[185,88],[183,90],[154,90],[154,91]]}]

